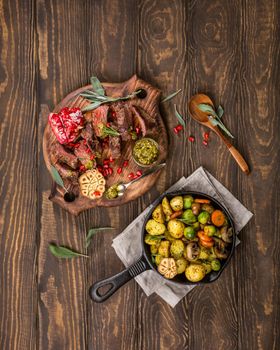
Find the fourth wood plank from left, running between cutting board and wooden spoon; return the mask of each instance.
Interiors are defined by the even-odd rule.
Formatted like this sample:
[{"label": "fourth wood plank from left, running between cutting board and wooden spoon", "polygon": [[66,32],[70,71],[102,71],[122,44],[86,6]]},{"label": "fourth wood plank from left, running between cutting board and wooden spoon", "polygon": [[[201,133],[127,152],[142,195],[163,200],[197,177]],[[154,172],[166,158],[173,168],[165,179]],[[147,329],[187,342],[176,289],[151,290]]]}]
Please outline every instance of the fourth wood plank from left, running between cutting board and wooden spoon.
[{"label": "fourth wood plank from left, running between cutting board and wooden spoon", "polygon": [[[139,10],[138,72],[147,81],[164,91],[164,95],[185,88],[186,62],[186,4],[181,1],[142,1]],[[186,115],[185,92],[161,106],[170,135],[168,167],[155,190],[143,200],[152,203],[188,171],[186,138],[172,133],[178,121],[173,104]],[[180,155],[180,158],[176,155]],[[140,213],[140,211],[138,211]],[[139,347],[143,350],[186,349],[188,346],[188,308],[179,304],[172,309],[157,295],[149,298],[139,291]]]}]

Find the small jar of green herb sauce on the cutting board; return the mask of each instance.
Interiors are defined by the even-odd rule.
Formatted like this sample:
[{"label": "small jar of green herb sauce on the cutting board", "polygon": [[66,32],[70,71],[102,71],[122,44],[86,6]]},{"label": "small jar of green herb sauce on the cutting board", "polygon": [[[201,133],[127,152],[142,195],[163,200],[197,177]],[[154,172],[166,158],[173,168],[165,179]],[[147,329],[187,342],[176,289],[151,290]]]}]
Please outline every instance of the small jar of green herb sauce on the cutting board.
[{"label": "small jar of green herb sauce on the cutting board", "polygon": [[151,165],[159,155],[158,144],[153,139],[143,138],[136,141],[133,148],[133,158],[139,165]]}]

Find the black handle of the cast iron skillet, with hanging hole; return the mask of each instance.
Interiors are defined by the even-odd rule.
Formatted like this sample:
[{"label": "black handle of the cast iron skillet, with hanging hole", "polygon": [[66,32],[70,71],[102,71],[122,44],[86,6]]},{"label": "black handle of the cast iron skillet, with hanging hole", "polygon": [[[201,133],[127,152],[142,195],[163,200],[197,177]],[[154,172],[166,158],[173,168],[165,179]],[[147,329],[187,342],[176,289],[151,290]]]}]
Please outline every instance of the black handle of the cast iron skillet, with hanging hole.
[{"label": "black handle of the cast iron skillet, with hanging hole", "polygon": [[[149,269],[150,266],[142,256],[135,264],[123,270],[122,272],[94,283],[89,289],[89,295],[93,301],[102,303],[103,301],[107,300],[112,294],[114,294],[115,291],[123,286],[126,282]],[[99,292],[99,289],[106,286],[109,287],[109,289],[104,294],[101,294]]]}]

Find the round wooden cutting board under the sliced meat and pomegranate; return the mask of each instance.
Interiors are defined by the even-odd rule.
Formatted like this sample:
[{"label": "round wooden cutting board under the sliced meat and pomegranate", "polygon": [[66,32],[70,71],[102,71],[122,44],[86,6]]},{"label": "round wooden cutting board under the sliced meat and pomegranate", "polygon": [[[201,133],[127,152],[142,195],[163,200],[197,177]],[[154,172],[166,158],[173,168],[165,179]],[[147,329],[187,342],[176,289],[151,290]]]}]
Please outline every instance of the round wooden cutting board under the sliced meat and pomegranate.
[{"label": "round wooden cutting board under the sliced meat and pomegranate", "polygon": [[[133,98],[128,100],[127,103],[137,107],[141,111],[141,116],[145,120],[147,126],[146,137],[151,137],[156,140],[159,144],[160,156],[157,163],[162,163],[167,156],[168,139],[167,132],[159,113],[159,102],[161,92],[152,85],[146,83],[145,81],[139,79],[136,75],[132,76],[129,80],[123,83],[102,83],[106,95],[112,97],[120,97],[131,94],[132,92],[143,89],[146,91],[147,95],[144,98]],[[79,107],[82,108],[88,104],[83,97],[79,94],[90,89],[91,85],[84,86],[76,91],[71,92],[67,95],[54,109],[54,112],[59,112],[63,107]],[[44,136],[43,136],[43,155],[46,162],[46,166],[50,171],[51,161],[50,161],[50,146],[53,142],[57,142],[56,137],[47,123]],[[122,143],[121,157],[116,159],[114,163],[111,163],[111,167],[114,172],[111,176],[106,178],[106,188],[112,184],[119,182],[129,182],[128,174],[133,172],[136,173],[137,170],[142,170],[144,173],[148,168],[139,167],[132,159],[132,148],[135,141],[128,141]],[[129,160],[129,164],[126,168],[123,168],[122,174],[117,173],[117,168],[121,167],[124,160]],[[93,208],[96,206],[112,207],[119,206],[129,201],[132,201],[139,196],[147,192],[156,182],[160,171],[153,173],[143,179],[140,179],[136,183],[132,184],[126,191],[123,197],[119,197],[114,200],[108,200],[103,196],[97,200],[91,200],[87,197],[79,196],[73,202],[66,202],[63,198],[63,191],[59,186],[53,183],[51,194],[49,199],[53,202],[58,203],[61,207],[68,210],[71,214],[78,215],[80,212]]]}]

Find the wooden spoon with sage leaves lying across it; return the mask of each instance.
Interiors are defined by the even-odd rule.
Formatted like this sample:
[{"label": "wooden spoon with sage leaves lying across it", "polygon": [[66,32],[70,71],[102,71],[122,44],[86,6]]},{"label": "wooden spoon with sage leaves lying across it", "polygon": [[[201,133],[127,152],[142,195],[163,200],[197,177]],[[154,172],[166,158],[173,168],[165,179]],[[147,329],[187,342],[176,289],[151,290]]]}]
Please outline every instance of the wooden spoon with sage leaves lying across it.
[{"label": "wooden spoon with sage leaves lying across it", "polygon": [[241,170],[244,171],[244,173],[249,174],[250,170],[249,170],[248,164],[246,163],[242,155],[224,136],[224,134],[220,131],[220,129],[217,126],[214,126],[211,124],[211,122],[208,119],[209,114],[202,112],[198,108],[198,105],[201,103],[208,104],[214,108],[213,102],[207,95],[204,95],[204,94],[194,95],[189,101],[189,111],[190,111],[191,117],[196,121],[198,121],[200,124],[205,125],[211,130],[213,130],[224,142],[224,144],[227,146],[228,150],[230,151],[231,155],[233,156],[237,164],[240,166]]}]

